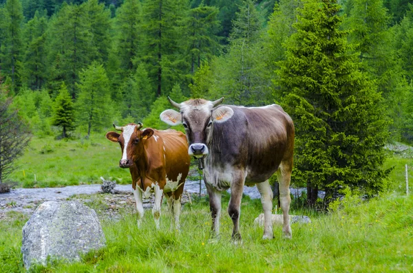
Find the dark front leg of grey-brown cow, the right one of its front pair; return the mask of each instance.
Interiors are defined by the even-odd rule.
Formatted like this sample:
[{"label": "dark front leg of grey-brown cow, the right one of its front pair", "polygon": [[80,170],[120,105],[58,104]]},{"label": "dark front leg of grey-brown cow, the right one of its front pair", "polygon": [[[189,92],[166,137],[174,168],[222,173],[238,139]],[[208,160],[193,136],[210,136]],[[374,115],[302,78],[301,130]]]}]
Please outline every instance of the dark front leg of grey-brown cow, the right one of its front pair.
[{"label": "dark front leg of grey-brown cow, the right one of its front pair", "polygon": [[231,183],[231,199],[229,199],[228,214],[233,220],[232,239],[235,243],[242,241],[240,233],[241,199],[244,191],[244,175],[242,173],[233,174]]}]

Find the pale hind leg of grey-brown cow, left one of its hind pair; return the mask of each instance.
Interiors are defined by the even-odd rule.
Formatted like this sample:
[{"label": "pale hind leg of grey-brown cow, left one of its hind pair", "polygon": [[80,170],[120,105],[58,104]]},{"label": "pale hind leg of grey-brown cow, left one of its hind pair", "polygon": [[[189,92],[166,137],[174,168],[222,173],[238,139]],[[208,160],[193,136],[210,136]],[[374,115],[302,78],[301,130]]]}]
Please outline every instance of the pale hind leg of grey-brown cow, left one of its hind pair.
[{"label": "pale hind leg of grey-brown cow, left one of its hind pair", "polygon": [[261,204],[264,209],[264,235],[262,239],[273,239],[273,190],[271,190],[268,180],[257,183],[257,188],[260,192]]}]

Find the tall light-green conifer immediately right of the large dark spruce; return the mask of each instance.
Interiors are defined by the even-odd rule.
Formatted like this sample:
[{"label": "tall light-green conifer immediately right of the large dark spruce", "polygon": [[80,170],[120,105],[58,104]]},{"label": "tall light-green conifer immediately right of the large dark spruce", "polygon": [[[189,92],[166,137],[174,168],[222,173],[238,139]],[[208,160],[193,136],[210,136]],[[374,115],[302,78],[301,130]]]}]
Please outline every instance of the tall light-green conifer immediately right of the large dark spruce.
[{"label": "tall light-green conifer immediately right of the large dark spruce", "polygon": [[353,0],[351,3],[346,20],[352,30],[350,43],[357,45],[362,69],[376,81],[388,116],[393,120],[390,127],[393,138],[399,140],[405,120],[401,105],[410,87],[396,55],[394,31],[389,28],[391,17],[382,0]]}]

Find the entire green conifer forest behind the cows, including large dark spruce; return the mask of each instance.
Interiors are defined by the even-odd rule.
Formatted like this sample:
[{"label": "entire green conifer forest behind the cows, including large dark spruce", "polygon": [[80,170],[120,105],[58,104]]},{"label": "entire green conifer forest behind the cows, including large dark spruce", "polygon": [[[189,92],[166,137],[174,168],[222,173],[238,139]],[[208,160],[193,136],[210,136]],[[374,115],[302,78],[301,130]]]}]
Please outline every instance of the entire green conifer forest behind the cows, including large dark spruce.
[{"label": "entire green conifer forest behind the cows, including large dark spruce", "polygon": [[413,142],[409,2],[0,0],[0,104],[63,141],[112,123],[167,129],[167,96],[277,103],[310,204],[345,186],[374,196],[385,144]]}]

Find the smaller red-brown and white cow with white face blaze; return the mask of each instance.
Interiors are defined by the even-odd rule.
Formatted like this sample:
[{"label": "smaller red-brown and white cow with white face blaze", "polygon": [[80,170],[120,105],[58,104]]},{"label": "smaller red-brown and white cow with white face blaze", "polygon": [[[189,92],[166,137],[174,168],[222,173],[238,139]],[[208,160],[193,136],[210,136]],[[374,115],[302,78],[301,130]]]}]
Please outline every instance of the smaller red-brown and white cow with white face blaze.
[{"label": "smaller red-brown and white cow with white face blaze", "polygon": [[185,135],[171,129],[140,130],[142,123],[129,123],[124,127],[117,127],[114,124],[114,127],[122,133],[109,132],[106,138],[120,144],[122,159],[119,166],[129,168],[131,173],[138,211],[138,226],[144,214],[142,195],[147,198],[154,192],[155,204],[152,214],[156,228],[159,228],[160,204],[165,193],[168,197],[169,210],[174,216],[175,228],[179,229],[180,199],[190,163]]}]

